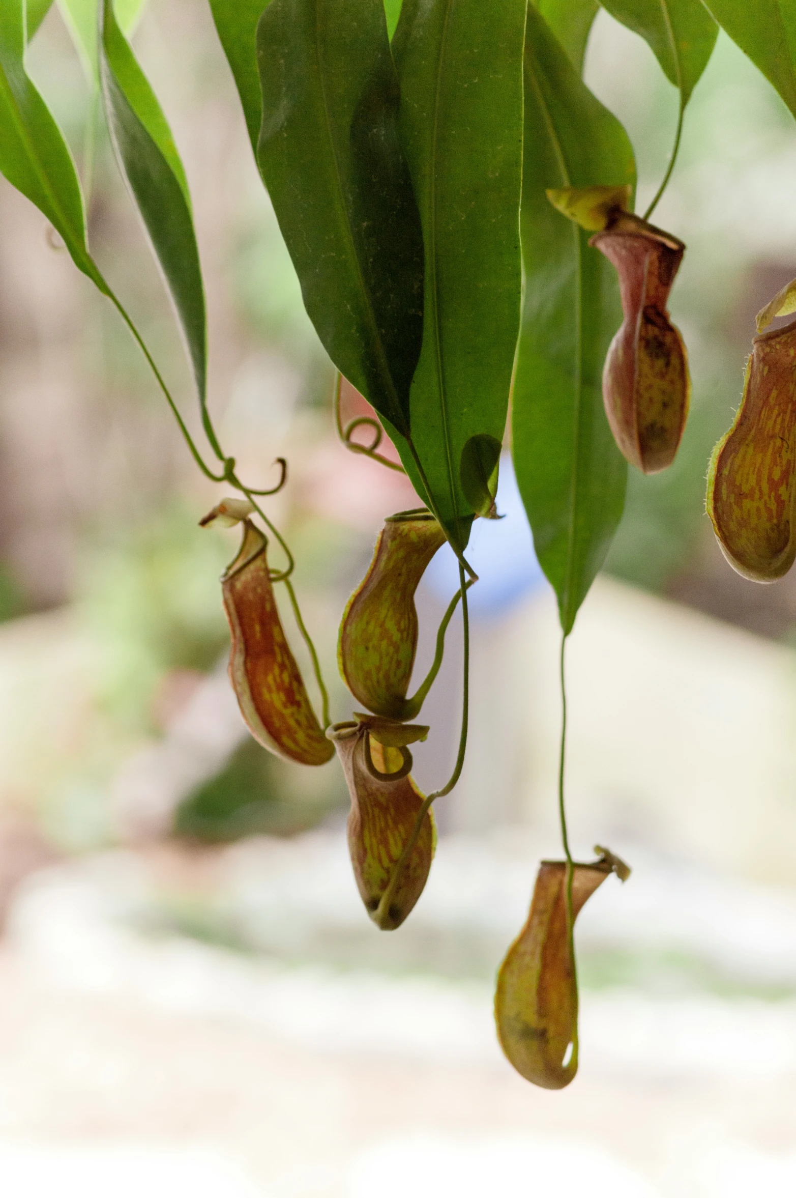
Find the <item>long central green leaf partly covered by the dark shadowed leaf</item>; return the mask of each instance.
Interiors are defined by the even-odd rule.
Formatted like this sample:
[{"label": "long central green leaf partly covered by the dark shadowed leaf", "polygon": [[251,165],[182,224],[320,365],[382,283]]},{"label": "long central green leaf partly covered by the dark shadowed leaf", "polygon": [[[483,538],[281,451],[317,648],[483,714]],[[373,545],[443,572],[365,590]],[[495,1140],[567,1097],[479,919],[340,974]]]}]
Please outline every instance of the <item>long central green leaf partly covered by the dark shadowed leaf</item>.
[{"label": "long central green leaf partly covered by the dark shadowed leaf", "polygon": [[519,325],[525,0],[403,0],[393,38],[400,133],[425,247],[412,440],[433,509],[463,549],[470,437],[503,440]]}]

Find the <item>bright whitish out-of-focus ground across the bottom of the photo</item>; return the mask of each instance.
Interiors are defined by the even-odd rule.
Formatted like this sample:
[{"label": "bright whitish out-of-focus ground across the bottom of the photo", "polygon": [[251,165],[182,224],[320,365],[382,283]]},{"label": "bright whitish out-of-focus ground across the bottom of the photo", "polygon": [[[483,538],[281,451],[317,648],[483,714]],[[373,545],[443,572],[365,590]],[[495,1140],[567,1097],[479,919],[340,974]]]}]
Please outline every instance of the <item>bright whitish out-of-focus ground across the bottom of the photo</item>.
[{"label": "bright whitish out-of-focus ground across the bottom of the photo", "polygon": [[[508,925],[529,888],[517,840],[485,851],[443,840],[419,930],[411,921],[396,936]],[[250,912],[259,898],[284,943],[302,943],[312,920],[322,938],[357,922],[363,940],[382,939],[339,834],[40,875],[18,897],[1,961],[7,1192],[40,1198],[56,1170],[60,1193],[89,1198],[144,1186],[153,1198],[790,1192],[796,902],[649,858],[637,866],[587,908],[581,948],[587,962],[608,950],[624,909],[634,954],[657,968],[642,962],[633,985],[587,984],[582,1067],[559,1094],[503,1060],[490,982],[463,976],[462,962],[458,976],[427,962],[390,976],[288,963],[273,939],[271,954],[244,955],[135,927],[171,888],[172,904],[203,893]],[[661,928],[649,909],[664,891],[675,914]],[[700,960],[725,992],[667,973],[662,948]],[[760,997],[760,962],[777,1000]]]}]

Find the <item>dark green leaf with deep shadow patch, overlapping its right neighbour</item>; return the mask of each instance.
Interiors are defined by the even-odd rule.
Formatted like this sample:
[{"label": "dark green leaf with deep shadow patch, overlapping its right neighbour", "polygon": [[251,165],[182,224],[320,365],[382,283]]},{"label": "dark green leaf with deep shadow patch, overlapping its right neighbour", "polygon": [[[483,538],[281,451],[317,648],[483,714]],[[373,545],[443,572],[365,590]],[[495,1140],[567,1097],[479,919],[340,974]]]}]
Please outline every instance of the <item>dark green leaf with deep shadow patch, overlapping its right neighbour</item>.
[{"label": "dark green leaf with deep shadow patch, overlapping its right neighbour", "polygon": [[338,369],[406,435],[423,234],[382,0],[272,0],[257,59],[260,169],[304,307]]}]

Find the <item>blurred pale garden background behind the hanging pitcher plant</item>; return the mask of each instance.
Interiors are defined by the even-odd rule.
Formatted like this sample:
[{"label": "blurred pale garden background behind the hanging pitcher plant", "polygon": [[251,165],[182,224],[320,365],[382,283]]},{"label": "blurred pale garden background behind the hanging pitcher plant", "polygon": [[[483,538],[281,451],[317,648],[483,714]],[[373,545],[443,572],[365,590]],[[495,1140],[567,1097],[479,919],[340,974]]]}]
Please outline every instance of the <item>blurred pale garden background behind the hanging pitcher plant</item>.
[{"label": "blurred pale garden background behind the hanging pitcher plant", "polygon": [[[193,192],[221,441],[251,485],[290,460],[268,510],[346,719],[336,625],[413,492],[335,438],[333,370],[207,6],[152,4],[135,49]],[[30,68],[91,175],[95,254],[198,432],[57,11]],[[675,91],[603,12],[587,80],[631,134],[643,210]],[[0,1184],[14,1198],[796,1187],[796,575],[741,580],[704,514],[754,314],[796,276],[795,176],[792,117],[721,35],[656,211],[688,244],[672,313],[692,415],[672,470],[631,472],[567,651],[573,847],[608,843],[634,872],[578,922],[582,1065],[561,1094],[514,1073],[491,1015],[536,861],[560,852],[555,611],[510,464],[505,520],[474,532],[464,774],[438,805],[418,908],[383,936],[351,878],[336,762],[287,766],[237,714],[218,577],[238,537],[198,527],[223,492],[110,305],[0,180]],[[418,674],[455,588],[440,552],[418,595]],[[460,670],[451,629],[415,754],[426,788],[455,756]]]}]

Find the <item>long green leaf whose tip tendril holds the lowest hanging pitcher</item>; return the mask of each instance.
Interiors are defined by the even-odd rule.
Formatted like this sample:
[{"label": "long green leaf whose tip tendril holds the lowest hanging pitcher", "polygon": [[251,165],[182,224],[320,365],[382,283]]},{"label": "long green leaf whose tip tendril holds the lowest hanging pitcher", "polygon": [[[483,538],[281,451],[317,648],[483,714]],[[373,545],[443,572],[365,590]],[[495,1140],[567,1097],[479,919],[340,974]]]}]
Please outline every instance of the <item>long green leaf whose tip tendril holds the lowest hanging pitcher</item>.
[{"label": "long green leaf whose tip tendril holds the lowest hanging pitcher", "polygon": [[602,367],[621,323],[616,272],[546,198],[554,187],[634,183],[627,135],[528,11],[522,242],[525,300],[512,450],[540,564],[575,623],[625,500],[627,465],[608,428]]}]

